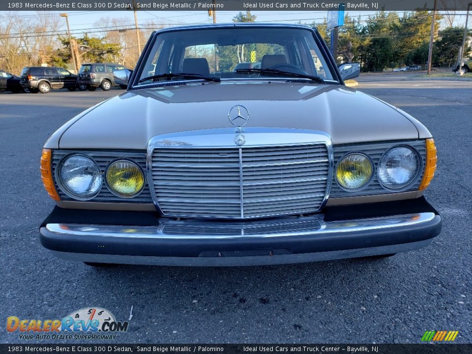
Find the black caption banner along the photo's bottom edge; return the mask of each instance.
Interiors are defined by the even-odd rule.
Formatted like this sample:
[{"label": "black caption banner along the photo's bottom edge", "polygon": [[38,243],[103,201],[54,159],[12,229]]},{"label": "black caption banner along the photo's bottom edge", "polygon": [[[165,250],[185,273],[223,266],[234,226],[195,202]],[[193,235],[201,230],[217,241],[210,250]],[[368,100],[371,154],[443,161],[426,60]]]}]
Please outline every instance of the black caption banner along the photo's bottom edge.
[{"label": "black caption banner along the photo's bottom edge", "polygon": [[1,344],[0,353],[470,354],[472,344]]}]

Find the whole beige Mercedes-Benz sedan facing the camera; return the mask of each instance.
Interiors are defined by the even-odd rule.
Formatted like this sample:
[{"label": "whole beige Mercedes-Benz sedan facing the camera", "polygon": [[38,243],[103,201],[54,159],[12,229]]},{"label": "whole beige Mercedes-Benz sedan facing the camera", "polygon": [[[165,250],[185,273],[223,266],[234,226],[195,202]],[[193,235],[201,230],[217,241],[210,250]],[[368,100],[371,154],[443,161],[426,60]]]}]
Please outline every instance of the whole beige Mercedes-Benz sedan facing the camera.
[{"label": "whole beige Mercedes-Benz sedan facing the camera", "polygon": [[45,144],[57,206],[43,246],[92,265],[246,266],[428,245],[441,231],[423,197],[434,141],[344,85],[358,74],[304,26],[154,32],[127,91]]}]

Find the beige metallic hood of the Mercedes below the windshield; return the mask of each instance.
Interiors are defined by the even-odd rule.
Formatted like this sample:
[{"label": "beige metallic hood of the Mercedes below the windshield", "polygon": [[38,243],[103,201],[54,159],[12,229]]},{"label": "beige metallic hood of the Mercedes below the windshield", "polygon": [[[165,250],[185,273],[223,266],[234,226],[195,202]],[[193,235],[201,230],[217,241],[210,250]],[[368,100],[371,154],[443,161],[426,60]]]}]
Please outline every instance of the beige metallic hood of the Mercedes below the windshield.
[{"label": "beige metallic hood of the Mercedes below the windshield", "polygon": [[232,127],[228,113],[236,104],[249,112],[246,127],[320,130],[333,144],[418,138],[415,124],[401,111],[345,86],[200,81],[122,93],[59,129],[57,143],[59,148],[146,149],[156,135]]}]

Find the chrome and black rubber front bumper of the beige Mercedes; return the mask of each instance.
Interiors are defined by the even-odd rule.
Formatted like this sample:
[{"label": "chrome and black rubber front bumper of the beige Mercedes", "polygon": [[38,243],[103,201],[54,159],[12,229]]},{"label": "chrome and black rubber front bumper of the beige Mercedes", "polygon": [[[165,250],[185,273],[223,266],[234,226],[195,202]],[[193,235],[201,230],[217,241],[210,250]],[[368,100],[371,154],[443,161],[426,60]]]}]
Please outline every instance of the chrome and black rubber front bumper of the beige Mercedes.
[{"label": "chrome and black rubber front bumper of the beige Mercedes", "polygon": [[420,212],[347,221],[323,214],[248,222],[158,219],[157,226],[46,223],[43,246],[59,258],[166,266],[253,266],[411,251],[441,232]]}]

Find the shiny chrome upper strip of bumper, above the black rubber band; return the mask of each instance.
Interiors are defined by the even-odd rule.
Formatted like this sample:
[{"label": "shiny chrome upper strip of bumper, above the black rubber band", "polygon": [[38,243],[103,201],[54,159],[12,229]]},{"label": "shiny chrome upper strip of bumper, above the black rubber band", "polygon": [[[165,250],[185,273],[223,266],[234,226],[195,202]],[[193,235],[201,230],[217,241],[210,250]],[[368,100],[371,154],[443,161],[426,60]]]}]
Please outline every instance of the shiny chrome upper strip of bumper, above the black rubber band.
[{"label": "shiny chrome upper strip of bumper, above the black rubber band", "polygon": [[[409,228],[421,224],[425,224],[434,220],[436,214],[433,212],[424,212],[417,214],[405,214],[405,215],[395,215],[379,218],[369,218],[369,219],[358,219],[358,220],[346,220],[346,221],[329,221],[325,222],[322,217],[323,215],[318,215],[316,217],[293,217],[293,218],[282,218],[278,219],[276,222],[228,222],[222,224],[221,222],[207,222],[207,221],[195,221],[195,220],[181,220],[175,221],[171,219],[159,219],[158,226],[115,226],[115,225],[79,225],[79,224],[47,224],[45,226],[46,230],[50,233],[63,236],[97,236],[97,237],[133,237],[133,238],[151,238],[151,239],[170,239],[170,240],[182,240],[182,239],[234,239],[240,237],[256,237],[256,238],[277,238],[277,237],[287,237],[287,236],[325,236],[328,234],[338,234],[338,233],[350,233],[350,232],[359,232],[359,231],[373,231],[373,230],[384,230],[391,228]],[[303,230],[303,231],[290,231],[290,232],[281,232],[274,234],[254,234],[250,236],[244,236],[243,230],[246,228],[251,228],[257,226],[261,228],[261,231],[266,231],[265,225],[270,226],[276,223],[284,224],[287,223],[288,226],[291,224],[299,223],[302,221],[313,221],[318,220],[319,225],[312,230]],[[237,235],[168,235],[165,234],[166,225],[179,225],[182,227],[188,227],[189,230],[193,226],[207,226],[214,227],[216,230],[222,226],[239,228],[240,232]]]}]

